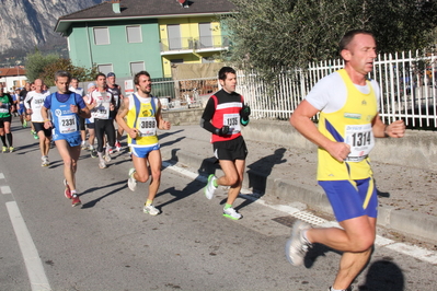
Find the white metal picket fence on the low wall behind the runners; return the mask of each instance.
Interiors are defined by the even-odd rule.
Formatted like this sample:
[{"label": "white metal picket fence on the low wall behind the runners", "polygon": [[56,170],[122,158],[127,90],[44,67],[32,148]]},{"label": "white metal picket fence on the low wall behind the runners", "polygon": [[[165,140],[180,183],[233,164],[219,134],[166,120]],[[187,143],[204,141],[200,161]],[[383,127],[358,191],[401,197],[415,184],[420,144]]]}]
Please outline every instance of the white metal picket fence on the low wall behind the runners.
[{"label": "white metal picket fence on the low wall behind the runners", "polygon": [[[378,56],[369,78],[380,85],[380,115],[386,121],[404,119],[414,128],[436,127],[436,61],[435,54],[418,51]],[[321,78],[343,66],[342,60],[313,62],[306,70],[276,72],[277,78],[269,82],[240,71],[237,92],[251,105],[253,118],[286,120]],[[153,80],[153,93],[168,98],[169,108],[189,107],[189,100],[196,98],[205,106],[207,97],[218,89],[215,78]]]}]

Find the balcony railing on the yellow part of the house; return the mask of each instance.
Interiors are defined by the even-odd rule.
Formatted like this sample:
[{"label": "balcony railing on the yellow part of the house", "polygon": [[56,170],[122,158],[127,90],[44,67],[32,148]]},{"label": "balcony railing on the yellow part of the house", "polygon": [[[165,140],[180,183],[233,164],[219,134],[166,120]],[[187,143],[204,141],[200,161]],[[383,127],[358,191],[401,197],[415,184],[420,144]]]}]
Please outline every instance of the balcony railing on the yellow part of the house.
[{"label": "balcony railing on the yellow part of the house", "polygon": [[229,47],[229,38],[225,35],[161,39],[161,51],[216,50],[225,49],[227,47]]}]

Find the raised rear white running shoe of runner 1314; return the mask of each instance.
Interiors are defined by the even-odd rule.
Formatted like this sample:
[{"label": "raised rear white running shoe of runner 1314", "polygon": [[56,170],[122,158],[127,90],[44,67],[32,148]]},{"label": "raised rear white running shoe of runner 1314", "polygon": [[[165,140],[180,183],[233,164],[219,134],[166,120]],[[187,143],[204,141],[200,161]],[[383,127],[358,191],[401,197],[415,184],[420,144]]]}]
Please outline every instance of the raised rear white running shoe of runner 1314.
[{"label": "raised rear white running shoe of runner 1314", "polygon": [[285,256],[294,266],[303,264],[304,255],[312,246],[312,244],[303,237],[303,231],[309,229],[311,229],[311,225],[300,220],[296,221],[292,225],[291,236],[285,245]]}]

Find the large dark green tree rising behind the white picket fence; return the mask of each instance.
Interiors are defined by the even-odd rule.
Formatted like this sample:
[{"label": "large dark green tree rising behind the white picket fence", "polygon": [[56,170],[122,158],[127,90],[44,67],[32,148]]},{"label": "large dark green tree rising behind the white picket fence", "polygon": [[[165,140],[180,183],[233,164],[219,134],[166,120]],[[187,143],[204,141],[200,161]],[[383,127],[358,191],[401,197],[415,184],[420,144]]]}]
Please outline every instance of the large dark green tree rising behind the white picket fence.
[{"label": "large dark green tree rising behind the white picket fence", "polygon": [[232,47],[225,56],[245,69],[306,68],[338,58],[338,42],[354,28],[372,31],[380,53],[421,49],[437,24],[434,0],[231,0],[222,16]]}]

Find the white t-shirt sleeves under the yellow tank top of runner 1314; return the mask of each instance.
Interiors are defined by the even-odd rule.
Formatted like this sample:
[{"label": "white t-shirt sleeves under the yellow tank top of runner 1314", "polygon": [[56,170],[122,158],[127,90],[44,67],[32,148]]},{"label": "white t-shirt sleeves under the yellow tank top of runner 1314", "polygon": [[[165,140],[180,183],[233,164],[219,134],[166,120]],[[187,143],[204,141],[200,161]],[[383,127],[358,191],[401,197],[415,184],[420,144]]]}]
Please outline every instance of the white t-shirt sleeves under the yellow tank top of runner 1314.
[{"label": "white t-shirt sleeves under the yellow tank top of runner 1314", "polygon": [[[379,101],[379,85],[375,80],[370,80],[377,101]],[[355,84],[355,86],[364,94],[370,92],[370,88],[366,84],[364,86]],[[324,113],[334,113],[343,108],[346,104],[347,92],[346,84],[338,72],[331,73],[321,79],[307,95],[308,101],[318,110]],[[379,112],[379,102],[378,112]]]}]

